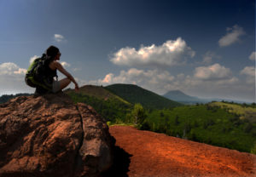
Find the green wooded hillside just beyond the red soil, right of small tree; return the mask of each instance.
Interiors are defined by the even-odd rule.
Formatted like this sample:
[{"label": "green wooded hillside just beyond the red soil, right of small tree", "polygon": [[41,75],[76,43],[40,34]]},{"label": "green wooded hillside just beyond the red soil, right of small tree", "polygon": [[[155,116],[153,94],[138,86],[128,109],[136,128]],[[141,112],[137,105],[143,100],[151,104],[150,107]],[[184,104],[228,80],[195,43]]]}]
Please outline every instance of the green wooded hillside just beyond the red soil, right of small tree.
[{"label": "green wooded hillside just beyond the red soil, right of small tree", "polygon": [[219,105],[220,103],[218,106],[207,104],[154,110],[148,112],[143,129],[256,153],[256,123]]}]

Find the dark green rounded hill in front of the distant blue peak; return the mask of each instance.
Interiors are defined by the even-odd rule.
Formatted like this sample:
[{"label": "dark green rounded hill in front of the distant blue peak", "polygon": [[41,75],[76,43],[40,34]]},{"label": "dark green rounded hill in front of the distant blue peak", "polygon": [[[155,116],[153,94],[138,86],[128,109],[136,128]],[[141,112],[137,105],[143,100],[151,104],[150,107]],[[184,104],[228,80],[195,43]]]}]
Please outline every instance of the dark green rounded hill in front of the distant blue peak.
[{"label": "dark green rounded hill in front of the distant blue peak", "polygon": [[159,94],[154,94],[153,92],[140,88],[137,85],[119,83],[109,85],[105,88],[132,104],[140,103],[146,108],[163,109],[182,106],[182,104],[177,103],[176,101],[168,100]]}]

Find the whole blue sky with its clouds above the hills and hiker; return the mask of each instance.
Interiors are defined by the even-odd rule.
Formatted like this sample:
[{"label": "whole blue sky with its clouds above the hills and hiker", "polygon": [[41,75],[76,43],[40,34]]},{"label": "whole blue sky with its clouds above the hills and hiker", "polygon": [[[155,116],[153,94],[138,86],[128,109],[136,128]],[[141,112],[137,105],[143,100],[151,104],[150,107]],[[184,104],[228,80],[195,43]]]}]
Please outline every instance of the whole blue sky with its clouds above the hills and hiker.
[{"label": "whole blue sky with its clouds above the hills and hiker", "polygon": [[253,0],[0,0],[0,21],[0,94],[33,92],[26,68],[55,45],[81,86],[255,102]]}]

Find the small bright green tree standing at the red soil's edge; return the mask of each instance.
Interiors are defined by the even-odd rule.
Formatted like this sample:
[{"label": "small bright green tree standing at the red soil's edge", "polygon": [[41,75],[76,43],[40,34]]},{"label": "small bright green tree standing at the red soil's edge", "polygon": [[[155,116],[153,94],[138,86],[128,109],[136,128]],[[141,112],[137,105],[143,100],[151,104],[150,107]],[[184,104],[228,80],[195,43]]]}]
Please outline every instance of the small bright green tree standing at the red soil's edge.
[{"label": "small bright green tree standing at the red soil's edge", "polygon": [[143,106],[139,103],[135,104],[133,110],[131,111],[131,117],[135,124],[141,124],[146,118],[146,112]]}]

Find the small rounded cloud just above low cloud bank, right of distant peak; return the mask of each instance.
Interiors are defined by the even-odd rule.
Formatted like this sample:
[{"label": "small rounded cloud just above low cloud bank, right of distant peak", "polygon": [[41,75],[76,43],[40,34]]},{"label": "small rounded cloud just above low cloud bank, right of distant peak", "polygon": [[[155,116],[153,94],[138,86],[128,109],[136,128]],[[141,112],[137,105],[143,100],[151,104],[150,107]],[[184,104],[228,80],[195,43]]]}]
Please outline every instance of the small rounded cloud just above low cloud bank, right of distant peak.
[{"label": "small rounded cloud just above low cloud bank, right of distant peak", "polygon": [[218,63],[212,66],[200,66],[195,68],[195,77],[203,80],[225,79],[231,76],[229,68],[220,66]]}]

